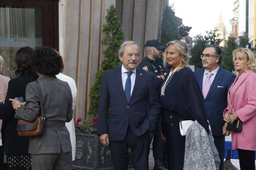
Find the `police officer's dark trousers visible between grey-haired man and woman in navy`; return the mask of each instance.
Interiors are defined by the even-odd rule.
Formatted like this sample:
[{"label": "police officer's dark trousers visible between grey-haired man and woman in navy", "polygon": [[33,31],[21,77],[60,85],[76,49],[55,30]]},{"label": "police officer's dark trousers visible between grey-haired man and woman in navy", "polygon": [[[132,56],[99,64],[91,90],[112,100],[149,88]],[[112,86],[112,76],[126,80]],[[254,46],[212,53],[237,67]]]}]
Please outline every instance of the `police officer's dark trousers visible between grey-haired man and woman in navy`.
[{"label": "police officer's dark trousers visible between grey-haired man and woman in navy", "polygon": [[[154,158],[160,155],[164,155],[164,147],[165,147],[166,141],[161,137],[161,133],[160,133],[161,127],[162,127],[162,116],[159,117],[156,123],[156,129],[154,131],[153,148],[152,148]],[[165,150],[165,152],[167,151]]]}]

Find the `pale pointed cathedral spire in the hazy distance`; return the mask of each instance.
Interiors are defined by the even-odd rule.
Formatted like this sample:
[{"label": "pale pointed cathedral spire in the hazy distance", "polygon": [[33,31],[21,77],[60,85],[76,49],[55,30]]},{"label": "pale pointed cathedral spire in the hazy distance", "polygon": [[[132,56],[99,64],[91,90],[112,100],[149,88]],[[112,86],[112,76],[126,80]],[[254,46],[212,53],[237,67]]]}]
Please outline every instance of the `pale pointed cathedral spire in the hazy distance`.
[{"label": "pale pointed cathedral spire in the hazy distance", "polygon": [[220,13],[220,16],[219,16],[219,21],[216,24],[216,30],[217,30],[217,32],[216,32],[217,33],[217,38],[222,39],[222,41],[220,43],[220,46],[224,47],[225,41],[228,40],[229,34],[228,34],[226,26],[223,22],[221,13]]}]

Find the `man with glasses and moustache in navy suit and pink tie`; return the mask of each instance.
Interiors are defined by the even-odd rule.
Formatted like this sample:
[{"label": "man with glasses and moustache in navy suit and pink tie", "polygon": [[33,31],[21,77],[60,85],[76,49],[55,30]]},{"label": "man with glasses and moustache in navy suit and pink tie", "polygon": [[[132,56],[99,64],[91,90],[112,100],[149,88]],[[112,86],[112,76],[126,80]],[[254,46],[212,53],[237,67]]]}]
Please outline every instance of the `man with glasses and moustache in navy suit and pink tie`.
[{"label": "man with glasses and moustache in navy suit and pink tie", "polygon": [[223,170],[225,136],[223,111],[228,105],[228,90],[236,76],[220,67],[222,61],[221,49],[216,45],[207,46],[202,58],[203,69],[194,73],[199,83],[204,100],[204,108],[210,123],[214,144],[219,152],[220,170]]}]

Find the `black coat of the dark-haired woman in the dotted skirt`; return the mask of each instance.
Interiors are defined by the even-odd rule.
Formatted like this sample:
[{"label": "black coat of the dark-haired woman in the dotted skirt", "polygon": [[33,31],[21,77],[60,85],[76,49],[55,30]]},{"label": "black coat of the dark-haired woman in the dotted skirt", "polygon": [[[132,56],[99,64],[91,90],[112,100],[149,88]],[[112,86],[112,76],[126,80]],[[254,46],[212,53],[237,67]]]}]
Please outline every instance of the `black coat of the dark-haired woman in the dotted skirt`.
[{"label": "black coat of the dark-haired woman in the dotted skirt", "polygon": [[[37,78],[37,77],[36,77]],[[0,119],[2,124],[2,142],[6,155],[28,154],[28,137],[20,137],[17,131],[18,119],[14,118],[15,111],[12,108],[12,101],[15,97],[23,97],[25,101],[25,89],[28,83],[36,78],[20,76],[9,81],[8,90],[4,105],[0,106]]]}]

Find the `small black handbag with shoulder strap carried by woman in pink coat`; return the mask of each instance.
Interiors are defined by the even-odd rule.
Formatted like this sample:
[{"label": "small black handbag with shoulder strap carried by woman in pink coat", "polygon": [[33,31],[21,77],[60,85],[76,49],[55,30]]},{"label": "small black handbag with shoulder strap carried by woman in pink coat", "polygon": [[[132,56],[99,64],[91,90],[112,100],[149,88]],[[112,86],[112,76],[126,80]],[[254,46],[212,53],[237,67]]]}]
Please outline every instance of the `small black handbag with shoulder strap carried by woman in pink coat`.
[{"label": "small black handbag with shoulder strap carried by woman in pink coat", "polygon": [[[251,74],[251,73],[250,73]],[[234,99],[235,99],[235,94],[236,91],[241,87],[241,85],[244,83],[244,81],[246,80],[246,78],[250,75],[248,74],[244,80],[242,81],[242,83],[236,88],[234,94],[233,94],[233,98],[232,98],[232,106],[231,106],[231,114],[232,114],[232,110],[233,110],[233,104],[234,104]],[[243,122],[240,119],[236,119],[232,124],[230,122],[227,122],[227,126],[226,126],[226,130],[228,131],[233,131],[233,132],[241,132],[242,131],[242,125]]]}]

